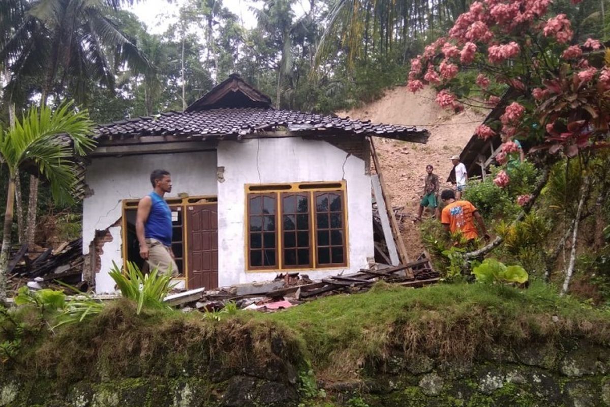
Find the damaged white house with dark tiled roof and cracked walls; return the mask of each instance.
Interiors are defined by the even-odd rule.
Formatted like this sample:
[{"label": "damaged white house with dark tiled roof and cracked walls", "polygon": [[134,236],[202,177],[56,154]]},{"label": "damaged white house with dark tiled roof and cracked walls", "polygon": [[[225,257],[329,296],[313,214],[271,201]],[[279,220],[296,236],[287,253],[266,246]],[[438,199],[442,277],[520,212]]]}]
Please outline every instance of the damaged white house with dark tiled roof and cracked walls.
[{"label": "damaged white house with dark tiled roof and cracked walls", "polygon": [[87,157],[84,279],[112,292],[149,174],[170,171],[173,251],[188,289],[323,278],[373,260],[368,136],[425,143],[425,129],[275,110],[233,74],[184,112],[98,126]]}]

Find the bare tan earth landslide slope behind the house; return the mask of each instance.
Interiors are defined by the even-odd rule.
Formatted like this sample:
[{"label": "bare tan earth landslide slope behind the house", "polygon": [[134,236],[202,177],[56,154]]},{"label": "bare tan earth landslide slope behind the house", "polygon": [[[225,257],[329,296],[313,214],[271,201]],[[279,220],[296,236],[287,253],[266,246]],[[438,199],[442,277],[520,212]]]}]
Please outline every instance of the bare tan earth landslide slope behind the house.
[{"label": "bare tan earth landslide slope behind the house", "polygon": [[[476,126],[484,119],[484,113],[472,109],[458,114],[443,110],[434,102],[434,96],[434,90],[429,88],[414,95],[406,87],[396,87],[388,90],[378,101],[348,112],[337,112],[340,116],[348,115],[375,123],[428,128],[430,138],[426,145],[375,139],[381,171],[392,195],[392,204],[404,206],[404,213],[413,218],[417,215],[426,164],[434,165],[434,172],[442,182],[441,190],[445,186],[450,187],[451,184],[445,184],[452,168],[449,157],[462,151]],[[413,259],[422,252],[419,228],[410,219],[403,223],[403,239],[409,258]]]}]

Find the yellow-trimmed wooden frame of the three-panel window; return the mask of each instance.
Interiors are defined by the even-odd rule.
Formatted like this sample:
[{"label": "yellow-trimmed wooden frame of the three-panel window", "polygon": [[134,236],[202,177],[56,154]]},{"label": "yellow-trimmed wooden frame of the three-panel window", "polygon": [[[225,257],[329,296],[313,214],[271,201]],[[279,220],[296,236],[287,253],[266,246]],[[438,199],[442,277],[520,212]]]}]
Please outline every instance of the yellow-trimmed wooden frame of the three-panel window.
[{"label": "yellow-trimmed wooden frame of the three-panel window", "polygon": [[[339,193],[342,198],[342,222],[343,222],[343,262],[320,264],[317,258],[317,225],[315,198],[318,193]],[[249,197],[251,195],[274,195],[276,196],[276,266],[251,266],[250,258],[250,236],[249,236]],[[306,195],[308,196],[309,215],[309,257],[308,265],[285,265],[284,264],[284,210],[283,196]],[[348,231],[348,202],[347,185],[345,181],[334,182],[295,182],[290,184],[246,184],[245,185],[245,234],[244,254],[246,272],[289,272],[303,270],[332,270],[349,267],[350,245]],[[330,229],[329,229],[330,230]],[[331,252],[332,260],[332,252]]]}]

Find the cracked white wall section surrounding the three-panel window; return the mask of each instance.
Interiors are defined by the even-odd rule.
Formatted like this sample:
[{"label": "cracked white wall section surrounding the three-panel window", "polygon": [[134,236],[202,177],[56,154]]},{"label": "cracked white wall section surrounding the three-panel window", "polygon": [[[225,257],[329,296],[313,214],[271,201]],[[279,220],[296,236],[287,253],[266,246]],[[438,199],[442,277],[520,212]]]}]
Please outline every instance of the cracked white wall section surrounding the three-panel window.
[{"label": "cracked white wall section surrounding the three-panel window", "polygon": [[[246,272],[244,248],[244,184],[272,182],[342,181],[347,184],[348,268],[356,272],[374,256],[371,181],[364,160],[321,140],[253,139],[225,141],[218,146],[218,283],[228,286],[273,279],[275,272]],[[319,279],[341,269],[307,273]]]}]

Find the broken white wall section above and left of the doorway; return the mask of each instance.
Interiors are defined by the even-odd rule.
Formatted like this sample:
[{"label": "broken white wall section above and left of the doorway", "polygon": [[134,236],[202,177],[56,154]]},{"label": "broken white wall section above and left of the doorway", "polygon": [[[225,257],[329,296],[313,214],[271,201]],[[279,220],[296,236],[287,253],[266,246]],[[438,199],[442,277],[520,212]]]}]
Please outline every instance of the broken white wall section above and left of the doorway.
[{"label": "broken white wall section above and left of the doorway", "polygon": [[[169,198],[179,193],[217,195],[215,151],[94,158],[85,176],[93,195],[83,201],[83,254],[88,253],[96,230],[109,228],[121,217],[122,200],[142,198],[152,190],[149,176],[155,168],[171,173]],[[96,274],[97,292],[113,291],[114,282],[107,272],[112,261],[122,262],[121,228],[115,226],[110,232],[113,240],[102,247],[101,271]]]}]

